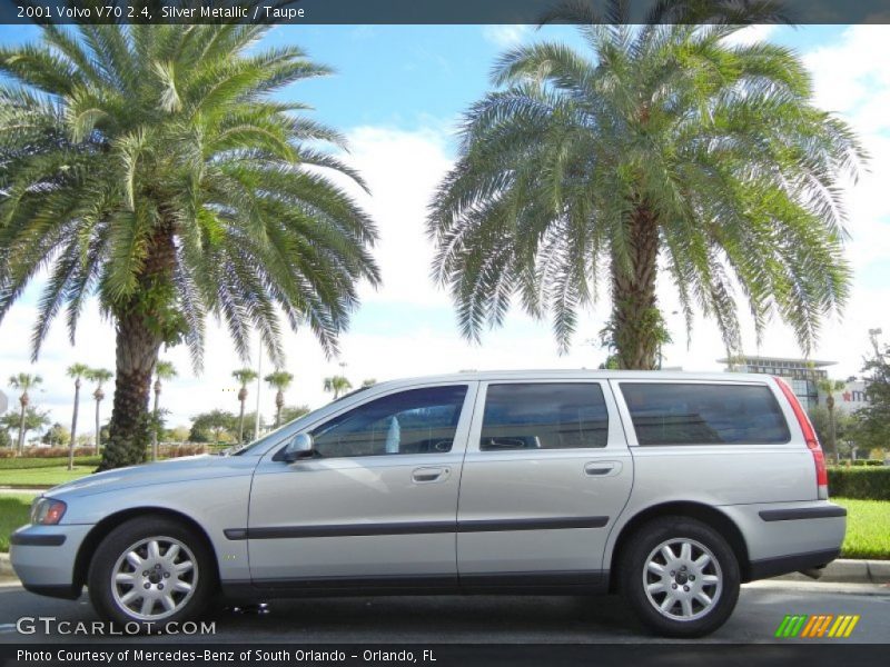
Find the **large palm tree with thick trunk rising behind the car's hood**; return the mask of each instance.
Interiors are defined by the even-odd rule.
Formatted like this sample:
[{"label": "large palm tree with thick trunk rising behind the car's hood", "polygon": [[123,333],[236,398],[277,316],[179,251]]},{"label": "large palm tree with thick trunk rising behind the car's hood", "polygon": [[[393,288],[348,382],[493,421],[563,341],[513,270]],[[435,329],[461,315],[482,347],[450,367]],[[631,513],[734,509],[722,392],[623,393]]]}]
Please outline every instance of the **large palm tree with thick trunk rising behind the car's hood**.
[{"label": "large palm tree with thick trunk rising behind the car's hood", "polygon": [[283,364],[284,317],[334,355],[357,283],[379,282],[374,223],[329,175],[364,183],[318,148],[343,137],[276,94],[329,70],[257,49],[268,28],[41,26],[0,48],[0,318],[46,269],[37,357],[98,297],[117,336],[101,468],[145,458],[162,345],[199,370],[212,315],[241,357],[256,328]]}]

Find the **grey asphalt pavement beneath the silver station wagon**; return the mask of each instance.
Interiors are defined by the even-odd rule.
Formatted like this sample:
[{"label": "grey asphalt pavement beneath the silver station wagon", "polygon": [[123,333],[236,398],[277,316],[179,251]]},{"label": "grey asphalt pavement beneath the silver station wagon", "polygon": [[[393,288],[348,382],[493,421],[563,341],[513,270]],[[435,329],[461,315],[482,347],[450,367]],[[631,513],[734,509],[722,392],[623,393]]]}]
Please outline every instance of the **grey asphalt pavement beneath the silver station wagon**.
[{"label": "grey asphalt pavement beneath the silver station wagon", "polygon": [[[832,643],[890,641],[890,586],[767,580],[745,585],[735,613],[706,641],[751,644],[794,641],[774,634],[789,614],[859,615],[852,635]],[[86,596],[68,601],[32,595],[18,584],[0,585],[0,643],[102,641],[119,638],[44,631],[42,621],[24,621],[32,634],[17,630],[18,619],[55,617],[97,620]],[[656,643],[615,596],[589,597],[377,597],[274,600],[264,613],[214,607],[207,620],[212,635],[168,635],[167,643]],[[21,624],[19,624],[21,625]],[[132,638],[128,638],[132,639]],[[139,640],[157,640],[144,637]],[[701,641],[701,640],[698,640]],[[812,640],[810,640],[812,641]]]}]

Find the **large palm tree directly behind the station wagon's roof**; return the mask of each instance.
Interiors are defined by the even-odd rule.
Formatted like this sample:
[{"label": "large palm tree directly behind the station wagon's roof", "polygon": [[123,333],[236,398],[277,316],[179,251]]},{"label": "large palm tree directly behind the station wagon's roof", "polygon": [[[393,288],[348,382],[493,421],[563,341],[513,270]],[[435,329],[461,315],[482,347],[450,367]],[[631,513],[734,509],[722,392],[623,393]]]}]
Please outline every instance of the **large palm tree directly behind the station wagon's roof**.
[{"label": "large palm tree directly behind the station wagon's roof", "polygon": [[[564,351],[607,276],[606,342],[621,368],[654,368],[663,267],[688,332],[698,307],[739,349],[738,283],[758,337],[778,313],[811,349],[848,297],[840,183],[864,155],[815,108],[793,51],[731,44],[742,26],[670,20],[673,6],[713,4],[655,3],[641,28],[563,8],[550,18],[583,22],[590,56],[535,43],[496,62],[500,88],[466,113],[427,222],[464,336],[518,298],[552,317]],[[607,22],[626,23],[627,7],[610,0]]]}]

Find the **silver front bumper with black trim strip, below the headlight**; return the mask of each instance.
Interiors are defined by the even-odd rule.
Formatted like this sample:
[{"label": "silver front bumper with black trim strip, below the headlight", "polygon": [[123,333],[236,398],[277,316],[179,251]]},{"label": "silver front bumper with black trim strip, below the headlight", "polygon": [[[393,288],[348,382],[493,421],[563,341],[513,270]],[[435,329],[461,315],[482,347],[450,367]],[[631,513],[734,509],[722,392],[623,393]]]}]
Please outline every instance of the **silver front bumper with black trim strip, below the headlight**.
[{"label": "silver front bumper with black trim strip, below the headlight", "polygon": [[22,526],[9,538],[9,560],[26,589],[40,595],[76,598],[77,554],[92,526]]}]

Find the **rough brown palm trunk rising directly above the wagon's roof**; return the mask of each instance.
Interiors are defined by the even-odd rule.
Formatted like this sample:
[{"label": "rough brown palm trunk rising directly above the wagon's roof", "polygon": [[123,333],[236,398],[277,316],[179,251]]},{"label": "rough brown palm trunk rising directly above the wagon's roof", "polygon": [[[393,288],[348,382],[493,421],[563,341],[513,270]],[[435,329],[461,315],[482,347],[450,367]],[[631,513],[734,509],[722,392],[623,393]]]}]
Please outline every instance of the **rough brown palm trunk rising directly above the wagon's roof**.
[{"label": "rough brown palm trunk rising directly above the wagon's roof", "polygon": [[655,368],[661,339],[655,277],[659,262],[659,226],[646,206],[631,217],[630,266],[612,258],[613,344],[621,368]]}]

